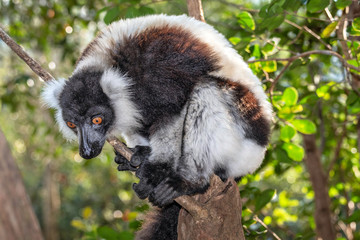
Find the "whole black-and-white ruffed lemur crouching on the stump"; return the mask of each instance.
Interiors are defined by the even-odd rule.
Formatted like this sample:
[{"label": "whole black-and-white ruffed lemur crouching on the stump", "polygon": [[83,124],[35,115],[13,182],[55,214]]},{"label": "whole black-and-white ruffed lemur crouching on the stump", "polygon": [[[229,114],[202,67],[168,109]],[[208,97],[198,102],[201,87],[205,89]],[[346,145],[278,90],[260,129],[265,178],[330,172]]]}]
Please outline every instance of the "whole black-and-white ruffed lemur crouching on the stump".
[{"label": "whole black-and-white ruffed lemur crouching on the stump", "polygon": [[213,27],[187,16],[152,15],[115,22],[82,52],[68,80],[46,84],[67,139],[83,158],[106,137],[134,148],[134,191],[160,206],[137,239],[176,239],[184,194],[254,172],[269,140],[272,110],[260,81]]}]

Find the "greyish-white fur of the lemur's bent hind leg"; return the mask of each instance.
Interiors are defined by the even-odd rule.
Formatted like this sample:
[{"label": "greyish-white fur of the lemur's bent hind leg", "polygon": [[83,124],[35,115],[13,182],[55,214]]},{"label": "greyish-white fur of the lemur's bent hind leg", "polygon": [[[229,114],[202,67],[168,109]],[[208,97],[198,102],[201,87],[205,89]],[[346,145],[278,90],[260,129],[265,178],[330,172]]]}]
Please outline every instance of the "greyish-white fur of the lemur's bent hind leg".
[{"label": "greyish-white fur of the lemur's bent hind leg", "polygon": [[230,177],[254,172],[266,148],[245,137],[245,124],[229,114],[226,93],[212,84],[200,85],[194,92],[184,126],[184,155],[190,160],[184,175],[196,176],[202,169],[206,177],[217,167]]}]

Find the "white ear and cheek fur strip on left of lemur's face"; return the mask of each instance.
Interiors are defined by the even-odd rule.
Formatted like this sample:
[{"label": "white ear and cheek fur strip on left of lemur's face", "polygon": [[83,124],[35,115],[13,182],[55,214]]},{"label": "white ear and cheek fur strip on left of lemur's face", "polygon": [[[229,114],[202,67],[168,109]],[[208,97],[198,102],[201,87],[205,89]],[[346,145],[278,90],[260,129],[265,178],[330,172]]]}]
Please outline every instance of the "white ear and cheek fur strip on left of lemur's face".
[{"label": "white ear and cheek fur strip on left of lemur's face", "polygon": [[76,134],[66,125],[60,108],[60,94],[66,84],[65,79],[51,80],[45,83],[41,98],[47,107],[55,109],[55,119],[60,132],[67,140],[76,140]]}]

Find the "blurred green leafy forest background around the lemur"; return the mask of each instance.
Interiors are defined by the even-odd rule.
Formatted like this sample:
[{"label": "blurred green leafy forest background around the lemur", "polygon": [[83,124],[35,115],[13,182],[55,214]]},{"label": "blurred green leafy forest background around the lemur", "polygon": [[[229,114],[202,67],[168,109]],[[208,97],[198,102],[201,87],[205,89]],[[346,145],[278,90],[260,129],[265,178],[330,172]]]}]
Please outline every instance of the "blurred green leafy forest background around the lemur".
[{"label": "blurred green leafy forest background around the lemur", "polygon": [[[249,239],[274,239],[254,216],[282,239],[315,238],[314,191],[303,163],[302,134],[316,136],[338,239],[360,239],[360,98],[356,84],[349,84],[359,72],[351,75],[331,55],[309,55],[289,66],[283,60],[311,50],[343,54],[336,28],[350,4],[351,0],[203,1],[206,21],[246,61],[278,59],[250,63],[264,89],[272,93],[275,117],[264,164],[239,183]],[[107,24],[154,13],[187,13],[186,1],[0,0],[2,27],[57,78],[71,74],[82,49]],[[360,57],[357,17],[344,29],[352,56],[346,60],[355,67]],[[136,178],[116,170],[109,145],[98,158],[82,159],[77,144],[60,135],[54,113],[42,106],[41,86],[0,41],[0,127],[45,236],[132,239],[149,208],[131,190]]]}]

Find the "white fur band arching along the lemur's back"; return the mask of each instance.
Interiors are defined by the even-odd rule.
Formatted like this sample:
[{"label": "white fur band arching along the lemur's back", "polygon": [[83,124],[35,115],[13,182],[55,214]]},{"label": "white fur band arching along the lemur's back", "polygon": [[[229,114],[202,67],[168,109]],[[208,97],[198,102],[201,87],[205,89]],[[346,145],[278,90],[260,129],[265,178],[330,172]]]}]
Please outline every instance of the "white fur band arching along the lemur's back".
[{"label": "white fur band arching along the lemur's back", "polygon": [[91,49],[90,55],[79,62],[76,70],[92,65],[96,68],[111,66],[110,54],[114,43],[122,44],[125,37],[136,36],[150,27],[175,26],[189,31],[210,46],[219,58],[221,68],[213,72],[214,76],[225,77],[234,82],[240,82],[248,87],[259,101],[262,113],[267,120],[272,119],[272,108],[262,89],[259,79],[251,72],[242,57],[231,47],[225,37],[212,26],[197,21],[194,18],[181,16],[150,15],[145,17],[121,20],[112,23],[98,37],[97,44]]}]

